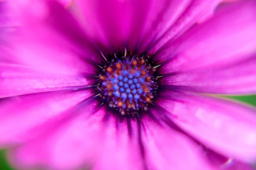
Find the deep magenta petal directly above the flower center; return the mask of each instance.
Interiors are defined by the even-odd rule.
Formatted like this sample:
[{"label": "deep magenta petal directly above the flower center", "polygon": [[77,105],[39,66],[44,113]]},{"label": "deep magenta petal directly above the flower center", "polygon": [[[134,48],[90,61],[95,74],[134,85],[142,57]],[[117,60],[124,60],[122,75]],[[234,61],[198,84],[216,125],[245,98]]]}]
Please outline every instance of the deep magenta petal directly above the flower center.
[{"label": "deep magenta petal directly above the flower center", "polygon": [[81,9],[79,17],[88,34],[111,52],[123,51],[127,44],[134,47],[150,5],[137,0],[75,0],[74,3]]}]

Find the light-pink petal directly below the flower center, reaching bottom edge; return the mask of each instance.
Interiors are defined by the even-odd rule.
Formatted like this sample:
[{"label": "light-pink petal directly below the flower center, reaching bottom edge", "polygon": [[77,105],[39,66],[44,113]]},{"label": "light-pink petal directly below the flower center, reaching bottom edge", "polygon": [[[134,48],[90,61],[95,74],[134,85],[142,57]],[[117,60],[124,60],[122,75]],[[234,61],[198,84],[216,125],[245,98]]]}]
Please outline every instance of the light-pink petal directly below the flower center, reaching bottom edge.
[{"label": "light-pink petal directly below the flower center, reaching bottom edge", "polygon": [[125,119],[116,126],[115,117],[111,115],[104,127],[103,149],[93,170],[143,170],[137,122],[131,121],[130,135]]}]

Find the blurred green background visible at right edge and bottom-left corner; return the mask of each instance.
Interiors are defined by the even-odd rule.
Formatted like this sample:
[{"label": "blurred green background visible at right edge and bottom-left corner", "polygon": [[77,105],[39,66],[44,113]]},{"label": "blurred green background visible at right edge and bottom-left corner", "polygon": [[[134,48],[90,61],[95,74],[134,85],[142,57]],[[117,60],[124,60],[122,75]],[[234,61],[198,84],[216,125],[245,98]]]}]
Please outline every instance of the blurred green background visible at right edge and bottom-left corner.
[{"label": "blurred green background visible at right edge and bottom-left corner", "polygon": [[[228,98],[236,99],[250,105],[256,106],[256,95],[253,96],[229,96]],[[0,170],[14,170],[5,159],[5,153],[0,150]]]}]

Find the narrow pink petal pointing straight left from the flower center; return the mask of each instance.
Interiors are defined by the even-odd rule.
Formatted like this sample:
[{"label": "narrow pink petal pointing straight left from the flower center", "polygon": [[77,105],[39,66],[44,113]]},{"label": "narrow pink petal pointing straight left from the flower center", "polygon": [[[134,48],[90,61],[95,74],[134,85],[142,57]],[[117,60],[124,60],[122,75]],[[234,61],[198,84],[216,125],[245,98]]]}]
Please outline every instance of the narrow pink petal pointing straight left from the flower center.
[{"label": "narrow pink petal pointing straight left from the flower center", "polygon": [[0,97],[86,88],[92,82],[85,77],[45,74],[23,65],[0,63]]}]

